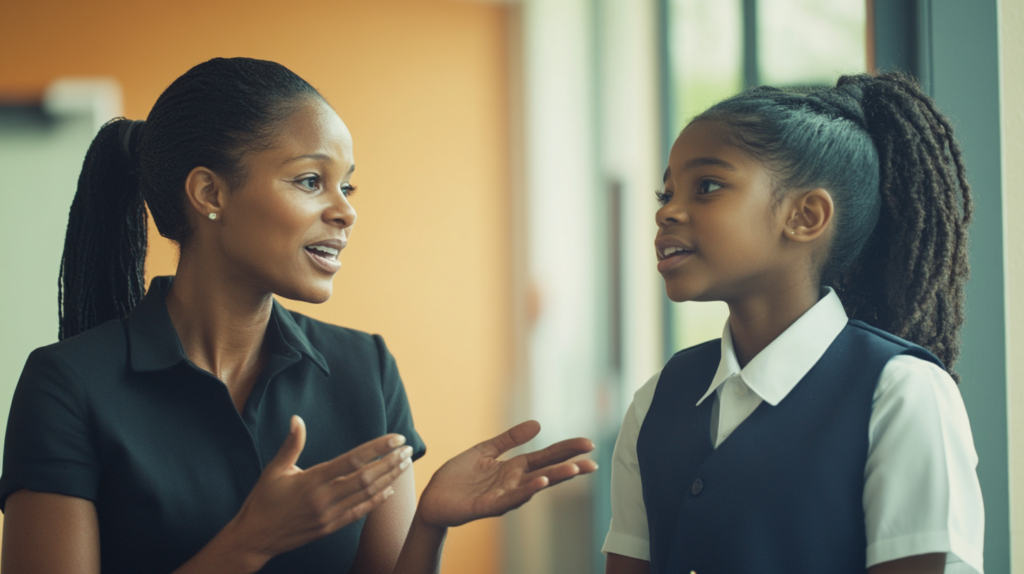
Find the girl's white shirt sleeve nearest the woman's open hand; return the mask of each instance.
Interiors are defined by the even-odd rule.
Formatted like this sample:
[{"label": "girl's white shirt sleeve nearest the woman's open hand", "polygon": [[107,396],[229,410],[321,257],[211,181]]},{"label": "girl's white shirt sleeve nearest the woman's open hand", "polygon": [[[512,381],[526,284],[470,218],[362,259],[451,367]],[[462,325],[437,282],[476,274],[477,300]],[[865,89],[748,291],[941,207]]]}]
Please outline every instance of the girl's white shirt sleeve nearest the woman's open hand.
[{"label": "girl's white shirt sleeve nearest the woman's open hand", "polygon": [[643,503],[640,482],[640,461],[637,458],[637,437],[654,398],[658,371],[633,396],[626,410],[623,428],[611,455],[611,525],[604,538],[604,554],[613,553],[637,560],[650,561],[650,538],[647,533],[647,509]]}]

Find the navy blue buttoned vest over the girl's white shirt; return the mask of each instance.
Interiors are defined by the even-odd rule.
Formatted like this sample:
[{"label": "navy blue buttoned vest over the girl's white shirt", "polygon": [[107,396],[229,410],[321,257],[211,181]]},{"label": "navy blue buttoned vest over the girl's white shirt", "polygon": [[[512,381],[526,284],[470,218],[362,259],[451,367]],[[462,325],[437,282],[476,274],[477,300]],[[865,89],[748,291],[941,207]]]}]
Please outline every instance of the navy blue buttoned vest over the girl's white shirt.
[{"label": "navy blue buttoned vest over the girl's white shirt", "polygon": [[931,353],[850,321],[776,406],[717,449],[708,391],[720,341],[676,353],[637,439],[652,574],[864,574],[867,424],[889,359]]}]

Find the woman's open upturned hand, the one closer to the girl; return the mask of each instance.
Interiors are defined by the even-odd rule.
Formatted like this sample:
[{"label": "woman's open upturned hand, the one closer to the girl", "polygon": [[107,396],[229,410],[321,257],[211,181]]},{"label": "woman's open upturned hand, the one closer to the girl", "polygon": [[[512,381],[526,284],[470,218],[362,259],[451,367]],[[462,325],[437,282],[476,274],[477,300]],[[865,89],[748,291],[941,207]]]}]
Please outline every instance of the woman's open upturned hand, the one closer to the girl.
[{"label": "woman's open upturned hand, the one closer to the girl", "polygon": [[446,528],[501,516],[548,486],[597,470],[593,460],[568,461],[594,449],[594,443],[585,438],[564,440],[508,460],[498,459],[540,432],[537,421],[520,423],[445,462],[420,497],[420,520],[430,527]]}]

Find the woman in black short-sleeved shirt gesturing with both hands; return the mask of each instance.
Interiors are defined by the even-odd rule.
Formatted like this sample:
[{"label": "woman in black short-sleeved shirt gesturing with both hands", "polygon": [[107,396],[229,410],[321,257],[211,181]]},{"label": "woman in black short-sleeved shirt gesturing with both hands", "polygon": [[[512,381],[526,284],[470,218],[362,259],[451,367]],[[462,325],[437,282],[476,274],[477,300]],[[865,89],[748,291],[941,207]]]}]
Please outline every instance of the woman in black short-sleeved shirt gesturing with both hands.
[{"label": "woman in black short-sleeved shirt gesturing with both hands", "polygon": [[[354,167],[330,105],[268,61],[199,64],[144,124],[100,130],[61,342],[30,356],[11,406],[5,573],[436,572],[446,528],[596,469],[567,461],[586,439],[498,460],[536,436],[524,423],[446,462],[417,506],[425,446],[383,340],[272,297],[330,298]],[[181,253],[144,298],[143,200]]]}]

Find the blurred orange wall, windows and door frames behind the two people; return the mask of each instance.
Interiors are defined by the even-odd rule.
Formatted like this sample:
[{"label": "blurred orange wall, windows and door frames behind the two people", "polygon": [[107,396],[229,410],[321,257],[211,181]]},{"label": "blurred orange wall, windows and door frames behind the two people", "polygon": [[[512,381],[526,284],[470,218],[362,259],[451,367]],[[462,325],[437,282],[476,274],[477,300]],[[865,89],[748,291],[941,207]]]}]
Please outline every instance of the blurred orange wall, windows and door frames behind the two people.
[{"label": "blurred orange wall, windows and door frames behind the two people", "polygon": [[[25,358],[56,340],[67,214],[98,127],[144,119],[210,57],[271,59],[334,105],[359,167],[335,297],[284,303],[387,340],[429,445],[421,488],[524,418],[544,426],[535,445],[598,444],[596,475],[454,529],[444,572],[603,572],[632,394],[726,317],[670,304],[654,269],[669,146],[746,87],[899,69],[954,119],[971,170],[958,370],[986,570],[1024,572],[1022,38],[1020,0],[0,0],[0,429]],[[147,277],[172,274],[174,247],[150,237]]]}]

